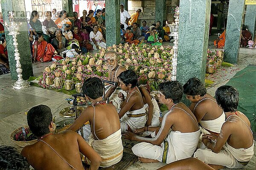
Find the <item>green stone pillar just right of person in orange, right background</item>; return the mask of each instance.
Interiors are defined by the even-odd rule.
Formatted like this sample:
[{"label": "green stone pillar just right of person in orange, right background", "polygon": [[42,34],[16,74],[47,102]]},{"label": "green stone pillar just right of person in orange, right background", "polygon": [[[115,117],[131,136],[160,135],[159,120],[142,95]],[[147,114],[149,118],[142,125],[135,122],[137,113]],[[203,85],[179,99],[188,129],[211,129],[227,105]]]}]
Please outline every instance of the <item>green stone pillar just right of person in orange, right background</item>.
[{"label": "green stone pillar just right of person in orange, right background", "polygon": [[232,64],[238,61],[244,3],[245,0],[230,0],[228,8],[224,61]]}]

